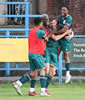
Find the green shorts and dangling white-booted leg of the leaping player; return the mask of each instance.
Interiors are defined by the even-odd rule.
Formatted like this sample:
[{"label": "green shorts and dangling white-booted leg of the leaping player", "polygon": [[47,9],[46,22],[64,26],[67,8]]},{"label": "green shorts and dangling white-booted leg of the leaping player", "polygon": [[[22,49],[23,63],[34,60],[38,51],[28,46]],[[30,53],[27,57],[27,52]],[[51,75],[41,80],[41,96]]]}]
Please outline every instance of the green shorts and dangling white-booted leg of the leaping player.
[{"label": "green shorts and dangling white-booted leg of the leaping player", "polygon": [[70,53],[70,48],[72,44],[72,39],[71,40],[66,40],[66,39],[61,39],[61,48],[64,52],[64,58],[65,58],[65,67],[66,67],[66,80],[65,83],[69,83],[71,80],[71,75],[70,75],[70,59],[69,59],[69,53]]}]

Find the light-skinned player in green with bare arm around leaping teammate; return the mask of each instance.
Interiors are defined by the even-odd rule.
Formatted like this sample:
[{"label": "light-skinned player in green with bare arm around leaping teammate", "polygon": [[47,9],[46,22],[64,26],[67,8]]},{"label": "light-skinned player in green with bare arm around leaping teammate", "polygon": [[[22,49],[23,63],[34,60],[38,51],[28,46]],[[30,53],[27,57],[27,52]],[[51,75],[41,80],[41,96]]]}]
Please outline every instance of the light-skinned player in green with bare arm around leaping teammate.
[{"label": "light-skinned player in green with bare arm around leaping teammate", "polygon": [[[56,30],[56,17],[51,16],[50,17],[50,24],[48,27],[48,30]],[[47,84],[46,89],[48,88],[48,85],[51,82],[51,79],[54,77],[57,67],[57,50],[59,46],[58,40],[69,34],[71,30],[67,30],[63,34],[53,34],[49,37],[49,41],[46,44],[46,52],[45,52],[45,58],[46,58],[46,77],[47,77]],[[49,34],[49,33],[48,33]]]}]

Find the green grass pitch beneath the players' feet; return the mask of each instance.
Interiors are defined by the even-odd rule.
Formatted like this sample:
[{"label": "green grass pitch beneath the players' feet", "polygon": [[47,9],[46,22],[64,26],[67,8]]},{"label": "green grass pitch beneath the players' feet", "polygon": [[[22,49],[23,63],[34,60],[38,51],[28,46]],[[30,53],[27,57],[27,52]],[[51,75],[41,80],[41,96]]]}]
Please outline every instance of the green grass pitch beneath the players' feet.
[{"label": "green grass pitch beneath the players' feet", "polygon": [[[19,96],[11,83],[0,84],[0,100],[85,100],[85,84],[71,83],[68,85],[52,83],[49,86],[49,97],[33,97],[28,96],[29,84],[23,85],[23,96]],[[40,93],[40,84],[36,84],[36,92]]]}]

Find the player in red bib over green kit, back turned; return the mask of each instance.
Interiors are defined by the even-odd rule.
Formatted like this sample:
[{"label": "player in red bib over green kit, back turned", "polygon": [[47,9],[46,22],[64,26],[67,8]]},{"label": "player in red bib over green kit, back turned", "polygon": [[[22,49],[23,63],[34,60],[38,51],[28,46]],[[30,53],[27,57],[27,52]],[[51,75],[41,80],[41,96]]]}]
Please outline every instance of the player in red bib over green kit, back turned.
[{"label": "player in red bib over green kit, back turned", "polygon": [[37,79],[38,71],[40,72],[40,83],[41,83],[41,96],[48,96],[45,92],[46,87],[46,77],[45,77],[45,63],[44,63],[44,51],[46,49],[46,41],[48,38],[45,32],[41,30],[43,27],[42,18],[35,18],[35,27],[29,32],[29,63],[31,68],[31,73],[26,73],[16,82],[13,82],[13,86],[19,95],[22,95],[21,86],[31,80],[30,92],[31,96],[38,96],[35,92],[35,82]]}]

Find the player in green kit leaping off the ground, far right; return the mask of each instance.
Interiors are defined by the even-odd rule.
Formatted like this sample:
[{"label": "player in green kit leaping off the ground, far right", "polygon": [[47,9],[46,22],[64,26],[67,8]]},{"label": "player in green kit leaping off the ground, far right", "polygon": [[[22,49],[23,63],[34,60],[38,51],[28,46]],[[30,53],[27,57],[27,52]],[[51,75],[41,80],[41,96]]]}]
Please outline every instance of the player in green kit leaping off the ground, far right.
[{"label": "player in green kit leaping off the ground, far right", "polygon": [[[66,30],[72,29],[72,16],[69,15],[69,9],[68,7],[62,7],[61,8],[61,15],[58,17],[57,26],[58,31],[57,34],[64,33]],[[74,32],[71,32],[64,38],[59,40],[60,49],[63,51],[64,58],[65,58],[65,67],[66,67],[66,80],[65,83],[69,83],[71,80],[70,75],[70,59],[69,59],[69,53],[70,48],[72,44],[72,38],[73,38]]]}]

